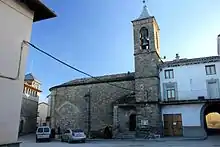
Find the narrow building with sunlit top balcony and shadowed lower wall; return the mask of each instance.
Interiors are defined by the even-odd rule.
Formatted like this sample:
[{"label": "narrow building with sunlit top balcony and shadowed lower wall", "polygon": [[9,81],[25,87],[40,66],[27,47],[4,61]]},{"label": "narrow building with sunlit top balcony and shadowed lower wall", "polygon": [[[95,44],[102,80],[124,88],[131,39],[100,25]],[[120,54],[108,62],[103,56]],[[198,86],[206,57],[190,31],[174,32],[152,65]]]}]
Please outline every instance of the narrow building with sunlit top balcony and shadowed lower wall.
[{"label": "narrow building with sunlit top balcony and shadowed lower wall", "polygon": [[36,131],[37,109],[40,93],[40,82],[31,73],[25,75],[19,135],[25,135]]}]

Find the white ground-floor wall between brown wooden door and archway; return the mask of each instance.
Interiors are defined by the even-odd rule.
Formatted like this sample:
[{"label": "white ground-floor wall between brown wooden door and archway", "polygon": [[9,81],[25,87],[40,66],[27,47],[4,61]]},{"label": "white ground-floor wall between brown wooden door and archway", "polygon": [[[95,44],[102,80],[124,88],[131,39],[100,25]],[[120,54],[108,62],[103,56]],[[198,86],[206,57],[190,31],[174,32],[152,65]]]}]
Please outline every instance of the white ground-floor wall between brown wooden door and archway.
[{"label": "white ground-floor wall between brown wooden door and archway", "polygon": [[200,111],[203,104],[167,105],[162,114],[181,114],[183,126],[201,126]]}]

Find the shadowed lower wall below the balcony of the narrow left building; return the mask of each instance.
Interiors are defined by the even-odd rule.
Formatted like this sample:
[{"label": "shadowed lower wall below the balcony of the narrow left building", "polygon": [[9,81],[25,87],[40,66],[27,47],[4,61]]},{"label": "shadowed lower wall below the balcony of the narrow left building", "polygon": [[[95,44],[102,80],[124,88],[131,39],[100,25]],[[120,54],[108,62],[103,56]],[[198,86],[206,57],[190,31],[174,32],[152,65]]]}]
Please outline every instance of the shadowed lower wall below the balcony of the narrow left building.
[{"label": "shadowed lower wall below the balcony of the narrow left building", "polygon": [[36,131],[38,98],[23,95],[20,115],[19,134]]}]

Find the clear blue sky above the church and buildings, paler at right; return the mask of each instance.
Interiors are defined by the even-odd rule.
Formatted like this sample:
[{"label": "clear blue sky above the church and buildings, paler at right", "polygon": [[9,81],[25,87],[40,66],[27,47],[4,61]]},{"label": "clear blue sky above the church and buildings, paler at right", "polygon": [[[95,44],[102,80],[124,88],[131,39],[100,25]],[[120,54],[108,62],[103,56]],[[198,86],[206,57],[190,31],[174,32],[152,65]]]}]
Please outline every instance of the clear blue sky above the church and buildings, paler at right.
[{"label": "clear blue sky above the church and buildings, paler at right", "polygon": [[[142,0],[43,0],[56,18],[33,24],[31,43],[93,76],[134,71],[131,21]],[[148,0],[160,27],[160,56],[173,60],[217,55],[220,0]],[[40,101],[49,88],[86,77],[29,49],[26,73],[41,81]]]}]

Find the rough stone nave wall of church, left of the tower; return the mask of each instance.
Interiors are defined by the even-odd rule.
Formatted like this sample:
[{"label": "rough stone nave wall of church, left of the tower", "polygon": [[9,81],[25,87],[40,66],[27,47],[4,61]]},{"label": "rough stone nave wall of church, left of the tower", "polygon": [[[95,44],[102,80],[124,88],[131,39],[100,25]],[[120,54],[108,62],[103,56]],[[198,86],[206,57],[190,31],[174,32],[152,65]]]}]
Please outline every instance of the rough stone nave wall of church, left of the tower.
[{"label": "rough stone nave wall of church, left of the tower", "polygon": [[[134,89],[133,80],[109,82],[117,86]],[[107,83],[81,84],[52,88],[52,127],[88,129],[88,98],[91,98],[91,131],[113,124],[113,105],[117,99],[130,94],[130,90]]]}]

